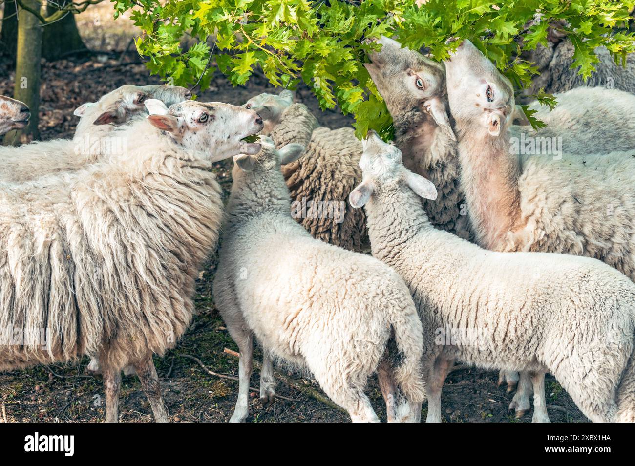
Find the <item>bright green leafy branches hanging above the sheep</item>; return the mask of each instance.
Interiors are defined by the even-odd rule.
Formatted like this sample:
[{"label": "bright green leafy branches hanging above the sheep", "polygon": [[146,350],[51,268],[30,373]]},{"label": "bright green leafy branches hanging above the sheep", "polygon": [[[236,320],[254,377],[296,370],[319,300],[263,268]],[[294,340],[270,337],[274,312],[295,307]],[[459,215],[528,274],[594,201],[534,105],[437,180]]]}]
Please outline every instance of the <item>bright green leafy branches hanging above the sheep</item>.
[{"label": "bright green leafy branches hanging above the sheep", "polygon": [[[604,45],[617,63],[635,50],[625,27],[635,0],[112,0],[116,16],[131,10],[142,29],[138,52],[152,74],[201,90],[216,70],[244,84],[260,67],[274,86],[294,88],[302,80],[323,109],[353,114],[356,135],[387,134],[391,117],[363,63],[380,45],[366,38],[399,36],[415,50],[429,48],[436,60],[470,39],[520,89],[537,70],[521,51],[547,44],[547,28],[559,29],[575,47],[572,67],[589,77]],[[520,44],[518,37],[523,37]],[[211,46],[210,46],[211,44]],[[535,96],[545,105],[553,98]],[[528,115],[533,125],[541,122]]]}]

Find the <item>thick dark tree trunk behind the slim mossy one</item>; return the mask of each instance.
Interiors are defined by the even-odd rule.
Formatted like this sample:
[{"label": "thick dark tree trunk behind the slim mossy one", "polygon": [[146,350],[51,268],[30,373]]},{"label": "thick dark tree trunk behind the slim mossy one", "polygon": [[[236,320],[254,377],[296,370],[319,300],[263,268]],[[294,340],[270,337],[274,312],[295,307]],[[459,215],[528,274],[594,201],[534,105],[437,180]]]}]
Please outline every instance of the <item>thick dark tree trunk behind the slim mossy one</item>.
[{"label": "thick dark tree trunk behind the slim mossy one", "polygon": [[[60,2],[61,5],[66,3]],[[54,6],[46,7],[46,15],[58,11]],[[77,31],[75,15],[67,14],[64,18],[43,27],[42,57],[53,61],[64,58],[72,52],[85,53],[88,49]]]}]

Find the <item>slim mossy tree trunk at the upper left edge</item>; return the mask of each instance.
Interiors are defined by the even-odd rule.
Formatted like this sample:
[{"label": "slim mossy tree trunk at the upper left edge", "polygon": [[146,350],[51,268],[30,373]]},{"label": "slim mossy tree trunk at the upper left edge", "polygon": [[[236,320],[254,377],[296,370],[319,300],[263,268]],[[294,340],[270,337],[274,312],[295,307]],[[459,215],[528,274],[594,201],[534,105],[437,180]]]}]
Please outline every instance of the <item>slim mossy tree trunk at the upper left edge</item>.
[{"label": "slim mossy tree trunk at the upper left edge", "polygon": [[[37,0],[22,0],[25,6],[39,11],[41,3]],[[39,88],[42,56],[42,27],[39,19],[29,11],[18,11],[18,46],[15,65],[15,88],[13,97],[29,105],[31,117],[29,125],[23,130],[10,131],[4,136],[4,142],[17,144],[37,139],[39,132]]]}]

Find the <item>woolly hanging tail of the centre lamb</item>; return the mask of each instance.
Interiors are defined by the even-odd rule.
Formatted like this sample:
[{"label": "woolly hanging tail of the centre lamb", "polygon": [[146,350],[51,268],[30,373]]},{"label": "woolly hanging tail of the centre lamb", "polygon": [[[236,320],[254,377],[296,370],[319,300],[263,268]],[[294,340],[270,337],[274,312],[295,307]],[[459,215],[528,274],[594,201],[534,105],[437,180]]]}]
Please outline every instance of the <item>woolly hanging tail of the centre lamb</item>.
[{"label": "woolly hanging tail of the centre lamb", "polygon": [[411,305],[411,309],[403,309],[389,316],[389,321],[394,329],[395,343],[401,359],[394,364],[394,380],[409,401],[421,403],[425,399],[421,367],[424,347],[421,319],[414,305]]}]

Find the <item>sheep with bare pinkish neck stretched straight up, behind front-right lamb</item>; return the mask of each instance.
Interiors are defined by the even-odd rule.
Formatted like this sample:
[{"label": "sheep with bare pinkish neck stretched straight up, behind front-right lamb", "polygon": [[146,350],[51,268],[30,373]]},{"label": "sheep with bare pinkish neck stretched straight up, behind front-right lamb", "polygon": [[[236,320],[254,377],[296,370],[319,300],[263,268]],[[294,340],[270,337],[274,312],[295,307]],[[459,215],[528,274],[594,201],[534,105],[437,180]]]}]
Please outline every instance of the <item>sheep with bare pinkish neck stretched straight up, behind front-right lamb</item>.
[{"label": "sheep with bare pinkish neck stretched straight up, behind front-right lamb", "polygon": [[[460,186],[478,244],[597,258],[635,279],[635,150],[510,154],[511,83],[469,41],[446,62],[459,134]],[[529,408],[519,388],[512,408]]]}]

